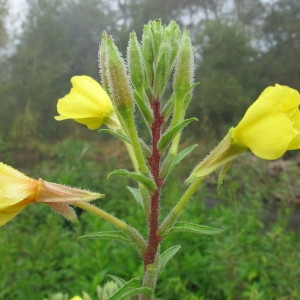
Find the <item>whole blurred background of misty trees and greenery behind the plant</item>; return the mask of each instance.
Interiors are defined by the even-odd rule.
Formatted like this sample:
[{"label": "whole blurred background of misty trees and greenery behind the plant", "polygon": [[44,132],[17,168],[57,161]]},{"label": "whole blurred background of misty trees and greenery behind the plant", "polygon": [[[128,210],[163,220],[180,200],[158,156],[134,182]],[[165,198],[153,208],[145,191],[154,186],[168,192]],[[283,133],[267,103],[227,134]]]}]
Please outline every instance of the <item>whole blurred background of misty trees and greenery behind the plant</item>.
[{"label": "whole blurred background of misty trees and greenery behind the plant", "polygon": [[[106,193],[103,208],[143,227],[130,194],[119,192],[128,182],[105,179],[129,164],[121,143],[53,116],[72,76],[99,80],[103,31],[125,56],[129,32],[141,39],[143,25],[158,18],[190,30],[200,83],[188,113],[199,121],[185,129],[183,141],[200,147],[178,170],[181,181],[267,85],[300,89],[299,0],[0,0],[0,160],[34,177]],[[226,232],[182,236],[183,250],[158,295],[299,299],[299,164],[297,152],[276,162],[246,154],[218,192],[211,176],[187,219]],[[178,176],[165,188],[166,209],[184,189]],[[0,298],[51,299],[82,290],[95,297],[108,273],[140,276],[127,246],[76,240],[107,228],[85,214],[80,225],[70,225],[43,207],[26,209],[0,231]]]}]

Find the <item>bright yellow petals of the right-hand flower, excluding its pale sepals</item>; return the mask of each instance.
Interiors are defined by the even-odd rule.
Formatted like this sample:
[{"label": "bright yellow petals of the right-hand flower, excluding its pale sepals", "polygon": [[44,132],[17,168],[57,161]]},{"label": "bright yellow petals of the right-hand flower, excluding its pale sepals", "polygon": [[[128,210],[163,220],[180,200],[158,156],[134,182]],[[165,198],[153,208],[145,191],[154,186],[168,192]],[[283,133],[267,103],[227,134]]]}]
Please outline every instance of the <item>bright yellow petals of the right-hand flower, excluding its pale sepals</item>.
[{"label": "bright yellow petals of the right-hand flower, excluding its pale sepals", "polygon": [[276,84],[267,87],[231,130],[232,138],[263,159],[277,159],[300,148],[299,92]]}]

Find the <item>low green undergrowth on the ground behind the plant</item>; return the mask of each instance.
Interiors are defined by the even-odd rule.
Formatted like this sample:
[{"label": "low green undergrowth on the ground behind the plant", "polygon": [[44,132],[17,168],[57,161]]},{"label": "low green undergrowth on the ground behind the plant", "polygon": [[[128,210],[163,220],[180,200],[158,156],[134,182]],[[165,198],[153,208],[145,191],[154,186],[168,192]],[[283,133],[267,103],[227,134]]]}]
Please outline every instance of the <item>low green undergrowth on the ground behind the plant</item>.
[{"label": "low green undergrowth on the ground behind the plant", "polygon": [[[120,145],[67,140],[29,169],[29,175],[89,188],[107,194],[97,205],[145,232],[143,215],[130,193],[133,185],[107,174],[126,167]],[[121,151],[121,150],[120,150]],[[110,155],[108,160],[104,159]],[[293,160],[291,160],[293,161]],[[211,176],[199,189],[183,220],[224,229],[214,236],[174,234],[162,249],[181,244],[167,265],[157,296],[174,299],[299,299],[299,228],[290,228],[299,195],[299,168],[287,164],[276,176],[270,164],[245,155],[235,162],[216,191]],[[189,166],[173,172],[164,188],[165,213],[180,197]],[[208,199],[211,201],[208,202]],[[212,205],[213,204],[213,205]],[[275,208],[276,207],[276,211]],[[270,211],[276,219],[269,219]],[[113,229],[89,213],[70,224],[43,205],[30,205],[0,231],[0,299],[44,299],[55,293],[89,293],[112,274],[126,280],[140,277],[141,259],[126,244],[78,239],[83,234]]]}]

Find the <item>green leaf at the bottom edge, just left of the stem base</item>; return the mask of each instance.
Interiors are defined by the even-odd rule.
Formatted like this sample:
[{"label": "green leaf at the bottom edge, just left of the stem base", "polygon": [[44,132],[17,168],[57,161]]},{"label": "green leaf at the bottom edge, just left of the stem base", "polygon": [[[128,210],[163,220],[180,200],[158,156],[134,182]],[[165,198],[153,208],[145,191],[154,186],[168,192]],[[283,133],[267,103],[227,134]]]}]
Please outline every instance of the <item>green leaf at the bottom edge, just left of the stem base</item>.
[{"label": "green leaf at the bottom edge, just left of the stem base", "polygon": [[153,291],[148,287],[141,287],[140,280],[133,278],[127,281],[113,296],[107,300],[122,300],[135,295],[153,296]]}]

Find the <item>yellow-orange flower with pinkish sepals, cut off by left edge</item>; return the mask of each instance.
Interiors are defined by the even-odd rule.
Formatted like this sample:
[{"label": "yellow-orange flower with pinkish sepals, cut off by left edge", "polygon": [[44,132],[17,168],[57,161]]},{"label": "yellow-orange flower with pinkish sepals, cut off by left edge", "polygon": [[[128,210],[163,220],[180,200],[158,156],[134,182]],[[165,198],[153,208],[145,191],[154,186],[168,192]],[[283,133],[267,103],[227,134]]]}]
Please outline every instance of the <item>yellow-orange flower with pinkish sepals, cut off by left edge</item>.
[{"label": "yellow-orange flower with pinkish sepals, cut off by left edge", "polygon": [[71,188],[43,179],[35,180],[0,162],[0,226],[30,203],[45,203],[70,221],[77,220],[73,202],[92,201],[102,194]]}]

